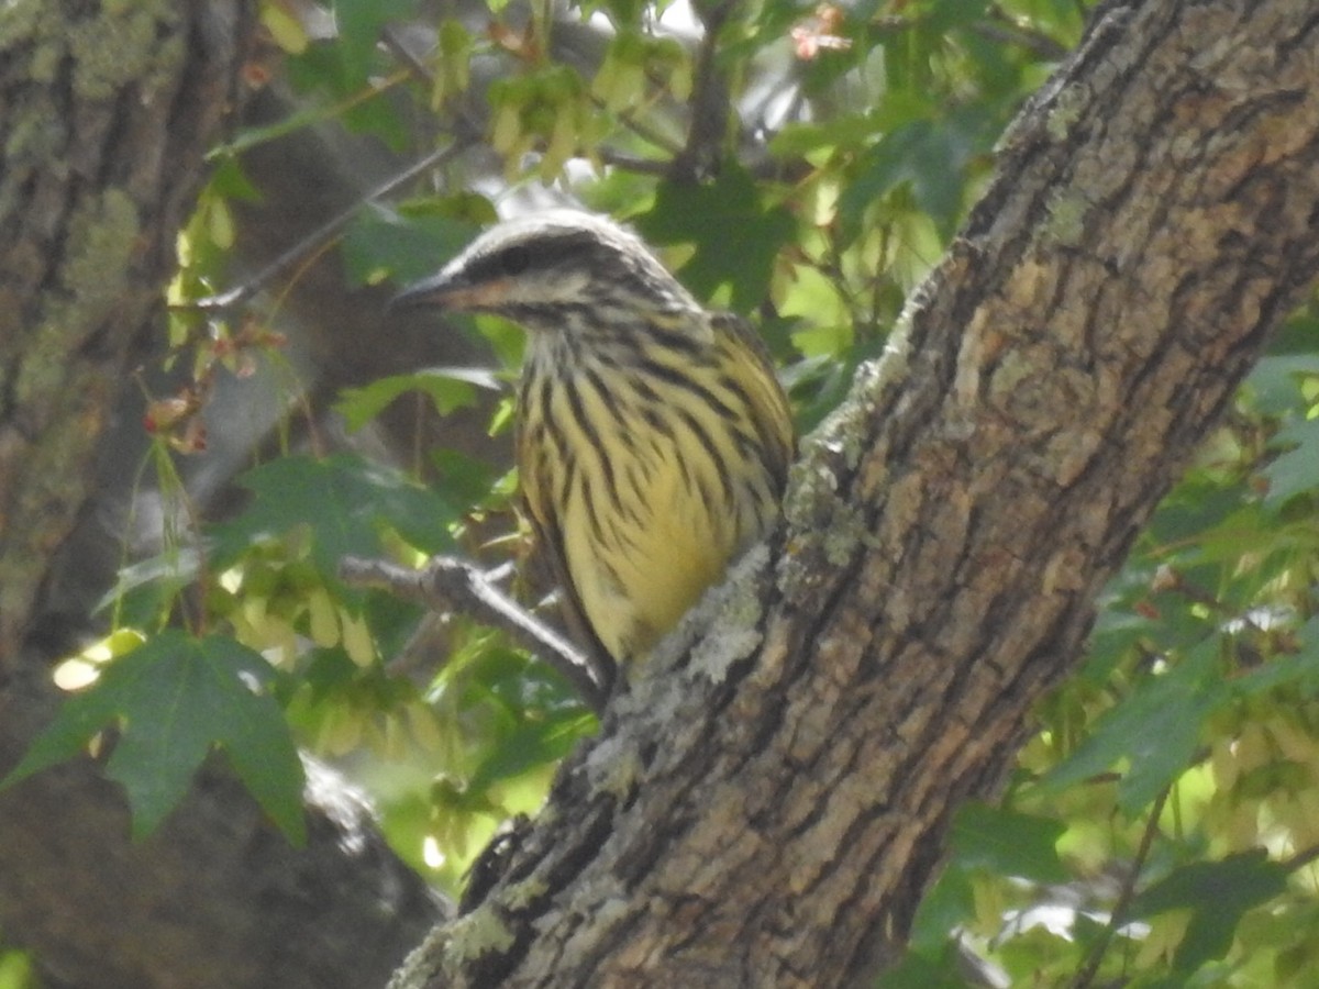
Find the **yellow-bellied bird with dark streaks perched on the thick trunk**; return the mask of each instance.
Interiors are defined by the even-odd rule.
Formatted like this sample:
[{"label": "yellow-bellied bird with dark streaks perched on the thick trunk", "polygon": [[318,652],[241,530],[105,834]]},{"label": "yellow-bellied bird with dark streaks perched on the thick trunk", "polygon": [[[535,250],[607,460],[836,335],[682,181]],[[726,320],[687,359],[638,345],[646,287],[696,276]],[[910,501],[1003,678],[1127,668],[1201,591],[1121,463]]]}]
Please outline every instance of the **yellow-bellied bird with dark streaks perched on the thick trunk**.
[{"label": "yellow-bellied bird with dark streaks perched on the thick trunk", "polygon": [[596,657],[642,658],[777,518],[794,435],[764,344],[623,227],[570,210],[501,223],[394,305],[529,331],[522,500]]}]

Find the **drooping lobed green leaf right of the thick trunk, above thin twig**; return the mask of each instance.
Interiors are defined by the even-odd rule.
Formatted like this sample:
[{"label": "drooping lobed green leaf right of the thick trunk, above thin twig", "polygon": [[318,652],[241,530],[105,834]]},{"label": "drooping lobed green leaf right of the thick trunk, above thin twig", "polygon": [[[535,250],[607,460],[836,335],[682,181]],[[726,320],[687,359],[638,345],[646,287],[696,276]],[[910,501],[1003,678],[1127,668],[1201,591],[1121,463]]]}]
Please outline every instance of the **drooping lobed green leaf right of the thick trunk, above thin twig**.
[{"label": "drooping lobed green leaf right of the thick trunk, above thin twig", "polygon": [[1133,814],[1182,774],[1204,720],[1229,695],[1220,679],[1217,638],[1210,637],[1181,663],[1144,680],[1100,716],[1089,737],[1041,786],[1057,793],[1126,761],[1117,806]]}]

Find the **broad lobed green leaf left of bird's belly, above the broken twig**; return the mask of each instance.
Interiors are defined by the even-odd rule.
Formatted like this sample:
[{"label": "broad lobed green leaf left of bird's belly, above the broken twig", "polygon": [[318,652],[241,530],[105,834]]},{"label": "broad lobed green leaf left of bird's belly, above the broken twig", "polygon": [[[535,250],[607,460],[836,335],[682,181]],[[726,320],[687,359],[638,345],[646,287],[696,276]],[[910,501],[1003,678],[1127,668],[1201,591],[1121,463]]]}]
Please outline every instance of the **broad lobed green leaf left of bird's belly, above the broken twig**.
[{"label": "broad lobed green leaf left of bird's belly, above the broken twig", "polygon": [[224,568],[253,542],[306,526],[311,562],[335,585],[339,560],[379,555],[386,529],[425,553],[451,550],[448,526],[463,512],[402,472],[353,454],[280,458],[241,475],[239,483],[252,492],[252,502],[212,526],[212,564]]}]

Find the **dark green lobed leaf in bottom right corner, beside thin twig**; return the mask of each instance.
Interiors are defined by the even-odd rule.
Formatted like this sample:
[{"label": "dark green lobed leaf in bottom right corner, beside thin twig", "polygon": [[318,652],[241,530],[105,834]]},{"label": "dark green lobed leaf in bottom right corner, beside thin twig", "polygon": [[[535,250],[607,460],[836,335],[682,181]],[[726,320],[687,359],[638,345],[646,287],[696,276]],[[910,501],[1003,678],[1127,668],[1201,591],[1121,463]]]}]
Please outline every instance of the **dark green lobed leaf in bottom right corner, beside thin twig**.
[{"label": "dark green lobed leaf in bottom right corner, beside thin twig", "polygon": [[1173,957],[1177,972],[1195,972],[1206,961],[1221,959],[1242,914],[1273,899],[1287,887],[1286,866],[1252,849],[1219,862],[1191,862],[1140,893],[1130,915],[1148,918],[1167,910],[1191,910],[1191,922]]}]

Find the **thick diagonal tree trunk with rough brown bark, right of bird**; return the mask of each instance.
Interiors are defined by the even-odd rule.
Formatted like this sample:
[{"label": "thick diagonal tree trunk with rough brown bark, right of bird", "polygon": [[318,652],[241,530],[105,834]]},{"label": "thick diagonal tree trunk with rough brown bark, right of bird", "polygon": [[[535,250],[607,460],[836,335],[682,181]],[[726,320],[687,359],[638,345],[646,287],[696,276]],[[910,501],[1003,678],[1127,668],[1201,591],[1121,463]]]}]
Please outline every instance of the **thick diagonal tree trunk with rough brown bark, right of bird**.
[{"label": "thick diagonal tree trunk with rough brown bark, right of bird", "polygon": [[1319,270],[1316,53],[1293,0],[1104,8],[806,443],[770,551],[396,985],[826,986],[892,957],[951,811],[995,793]]}]

